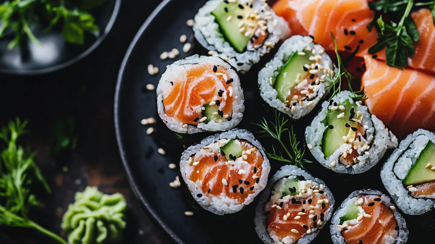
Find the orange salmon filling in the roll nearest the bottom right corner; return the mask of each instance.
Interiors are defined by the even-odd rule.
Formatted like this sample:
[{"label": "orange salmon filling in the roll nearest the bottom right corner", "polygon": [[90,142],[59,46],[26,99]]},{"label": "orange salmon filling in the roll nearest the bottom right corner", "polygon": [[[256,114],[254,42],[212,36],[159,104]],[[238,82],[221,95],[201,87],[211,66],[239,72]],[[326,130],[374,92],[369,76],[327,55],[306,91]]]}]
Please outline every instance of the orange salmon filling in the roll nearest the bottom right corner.
[{"label": "orange salmon filling in the roll nearest the bottom right corner", "polygon": [[[358,195],[362,199],[364,217],[357,224],[344,228],[341,236],[348,244],[394,243],[398,236],[397,221],[391,209],[377,195]],[[390,237],[388,237],[390,236]],[[385,238],[388,237],[388,238]]]}]

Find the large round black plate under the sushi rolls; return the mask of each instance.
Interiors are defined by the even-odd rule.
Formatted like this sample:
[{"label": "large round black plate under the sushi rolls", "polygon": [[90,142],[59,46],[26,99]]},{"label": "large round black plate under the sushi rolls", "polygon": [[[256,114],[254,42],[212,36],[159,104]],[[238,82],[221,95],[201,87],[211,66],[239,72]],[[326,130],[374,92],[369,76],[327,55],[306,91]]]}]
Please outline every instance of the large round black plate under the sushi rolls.
[{"label": "large round black plate under the sushi rolls", "polygon": [[[256,202],[233,216],[216,216],[205,211],[194,210],[189,203],[189,197],[181,189],[174,189],[169,183],[178,175],[177,169],[169,169],[169,163],[179,163],[179,154],[174,153],[177,145],[164,148],[166,155],[157,153],[160,147],[158,139],[162,135],[154,132],[147,135],[148,126],[141,125],[144,118],[156,118],[155,91],[147,91],[145,85],[151,83],[157,86],[165,67],[175,60],[161,61],[159,56],[164,51],[176,47],[181,50],[183,44],[179,37],[182,34],[191,36],[191,27],[185,23],[197,13],[206,0],[164,0],[141,27],[122,63],[115,94],[115,126],[120,154],[138,199],[151,218],[177,243],[250,243],[261,244],[254,230],[254,207]],[[184,54],[183,58],[191,54]],[[267,57],[264,57],[267,59]],[[160,69],[158,75],[151,76],[147,65],[153,64]],[[245,96],[245,113],[238,128],[249,129],[260,140],[266,150],[276,143],[260,137],[258,127],[253,122],[259,122],[261,115],[270,118],[273,112],[267,111],[267,106],[259,97],[257,73],[260,67],[251,69],[248,75],[241,77]],[[301,145],[304,143],[305,127],[311,122],[319,106],[297,122],[289,122],[294,126]],[[159,120],[160,118],[156,118]],[[389,152],[390,153],[390,152]],[[306,156],[310,159],[311,153]],[[379,176],[383,160],[377,166],[356,176],[338,175],[326,170],[318,163],[307,164],[308,170],[315,177],[325,180],[332,190],[336,205],[348,197],[354,190],[373,188],[386,193]],[[311,159],[313,160],[313,159]],[[271,161],[273,175],[283,164]],[[195,215],[187,217],[184,211],[193,210]],[[331,243],[329,223],[316,237],[313,243]]]}]

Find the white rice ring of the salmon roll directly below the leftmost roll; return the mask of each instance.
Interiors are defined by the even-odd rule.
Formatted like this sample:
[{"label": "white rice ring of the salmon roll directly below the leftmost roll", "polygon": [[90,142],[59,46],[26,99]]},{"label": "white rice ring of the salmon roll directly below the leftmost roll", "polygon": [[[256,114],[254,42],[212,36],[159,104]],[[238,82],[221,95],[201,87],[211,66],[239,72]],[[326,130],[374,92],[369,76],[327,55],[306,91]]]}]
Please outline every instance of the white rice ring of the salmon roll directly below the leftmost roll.
[{"label": "white rice ring of the salmon roll directly below the leftmost roll", "polygon": [[[256,147],[261,155],[263,156],[263,163],[261,165],[262,171],[261,176],[258,179],[258,183],[255,183],[255,188],[252,193],[249,193],[248,197],[245,198],[244,202],[239,204],[236,203],[234,199],[226,197],[222,194],[219,198],[214,196],[207,196],[207,193],[204,193],[201,190],[201,187],[198,186],[196,182],[190,180],[190,176],[192,173],[192,166],[189,165],[188,160],[194,154],[201,153],[203,147],[210,145],[211,143],[217,142],[222,139],[242,139],[251,143],[254,147]],[[251,203],[254,198],[260,193],[267,184],[268,174],[270,171],[269,160],[264,153],[264,150],[251,132],[248,132],[244,129],[232,129],[227,132],[223,132],[221,134],[216,134],[214,136],[209,136],[199,142],[198,144],[192,145],[187,148],[184,153],[181,155],[180,160],[180,172],[183,177],[184,182],[186,183],[189,191],[191,192],[192,197],[197,203],[203,207],[205,210],[208,210],[214,214],[224,215],[224,214],[232,214],[242,210],[245,206]],[[226,186],[231,187],[231,186]],[[198,195],[199,194],[199,195]],[[198,197],[201,196],[201,197]]]}]

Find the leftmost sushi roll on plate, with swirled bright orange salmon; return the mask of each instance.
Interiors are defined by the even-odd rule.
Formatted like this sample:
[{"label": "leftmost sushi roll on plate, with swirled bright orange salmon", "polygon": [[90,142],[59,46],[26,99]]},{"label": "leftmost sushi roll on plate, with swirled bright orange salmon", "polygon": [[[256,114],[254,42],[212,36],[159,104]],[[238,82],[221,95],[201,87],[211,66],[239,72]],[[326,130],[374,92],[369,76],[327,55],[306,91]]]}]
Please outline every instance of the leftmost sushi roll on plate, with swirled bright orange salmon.
[{"label": "leftmost sushi roll on plate, with swirled bright orange salmon", "polygon": [[157,112],[179,133],[225,131],[243,117],[244,97],[234,67],[194,55],[167,66],[157,85]]}]

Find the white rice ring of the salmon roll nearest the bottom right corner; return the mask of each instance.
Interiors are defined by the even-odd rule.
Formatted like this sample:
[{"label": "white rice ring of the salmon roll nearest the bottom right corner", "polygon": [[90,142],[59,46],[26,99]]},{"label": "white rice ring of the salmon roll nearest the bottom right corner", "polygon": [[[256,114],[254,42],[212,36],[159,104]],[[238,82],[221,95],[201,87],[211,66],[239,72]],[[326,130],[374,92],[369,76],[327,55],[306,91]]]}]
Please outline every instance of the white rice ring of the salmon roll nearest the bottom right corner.
[{"label": "white rice ring of the salmon roll nearest the bottom right corner", "polygon": [[[385,206],[387,206],[389,208],[391,206],[394,207],[394,204],[391,203],[391,199],[378,190],[370,190],[369,189],[369,190],[356,190],[356,191],[354,191],[353,193],[351,193],[349,195],[348,198],[346,198],[346,200],[343,201],[343,203],[341,203],[340,207],[335,211],[334,216],[331,219],[331,230],[330,231],[331,231],[331,239],[332,239],[332,242],[334,242],[334,244],[346,244],[344,238],[341,236],[341,228],[337,227],[337,225],[340,224],[340,217],[344,216],[346,214],[345,213],[345,211],[346,211],[345,206],[347,206],[348,203],[350,203],[352,198],[354,198],[360,194],[377,195],[381,198],[382,203]],[[387,243],[404,244],[408,240],[408,234],[409,234],[409,230],[406,227],[405,218],[402,217],[402,215],[397,210],[391,210],[391,211],[396,219],[397,226],[399,227],[399,230],[398,230],[398,237],[395,240],[390,240],[390,242],[387,242]]]}]

